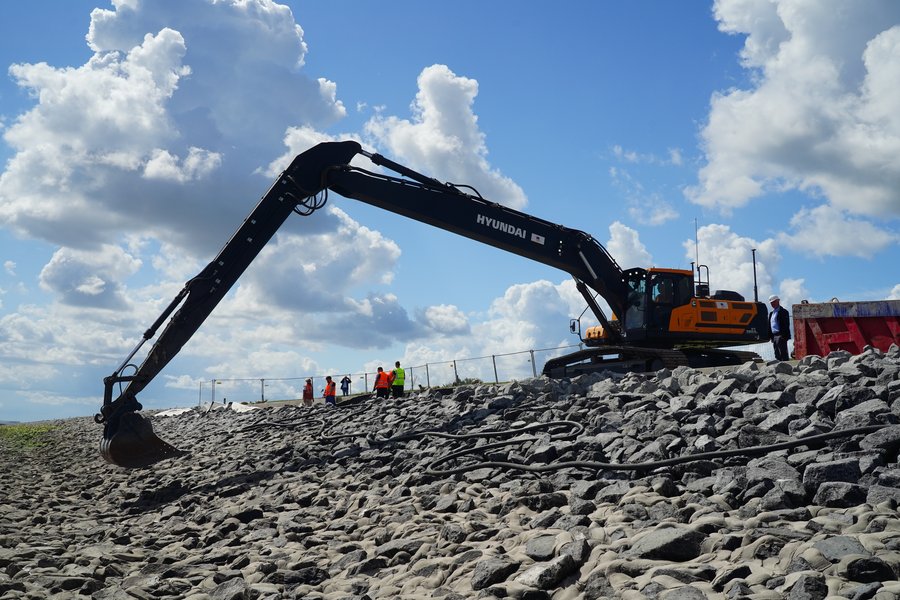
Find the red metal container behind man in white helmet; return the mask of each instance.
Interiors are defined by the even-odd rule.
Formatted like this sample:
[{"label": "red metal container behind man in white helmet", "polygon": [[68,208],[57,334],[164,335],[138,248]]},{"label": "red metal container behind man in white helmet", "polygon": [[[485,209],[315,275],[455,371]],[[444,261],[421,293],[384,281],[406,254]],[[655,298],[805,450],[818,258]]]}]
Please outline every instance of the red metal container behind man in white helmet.
[{"label": "red metal container behind man in white helmet", "polygon": [[866,346],[900,346],[900,300],[795,304],[794,357],[860,354]]}]

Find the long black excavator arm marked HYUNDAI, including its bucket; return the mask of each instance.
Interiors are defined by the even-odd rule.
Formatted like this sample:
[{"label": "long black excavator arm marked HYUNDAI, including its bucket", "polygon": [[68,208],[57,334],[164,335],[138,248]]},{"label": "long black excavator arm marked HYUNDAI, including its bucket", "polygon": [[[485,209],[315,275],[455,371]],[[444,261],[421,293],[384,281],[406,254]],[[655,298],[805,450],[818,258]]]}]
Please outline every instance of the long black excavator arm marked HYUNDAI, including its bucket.
[{"label": "long black excavator arm marked HYUNDAI, including its bucket", "polygon": [[[352,166],[358,155],[402,177]],[[318,144],[279,175],[218,255],[184,285],[140,343],[104,379],[103,406],[95,420],[104,425],[101,454],[107,461],[143,467],[181,454],[137,414],[142,408],[137,394],[191,339],[291,213],[312,214],[325,205],[329,191],[566,271],[608,329],[612,330],[590,290],[603,297],[619,318],[624,314],[623,272],[587,233],[490,202],[472,188],[442,183],[366,152],[357,142]],[[144,361],[135,366],[134,356],[164,323]]]}]

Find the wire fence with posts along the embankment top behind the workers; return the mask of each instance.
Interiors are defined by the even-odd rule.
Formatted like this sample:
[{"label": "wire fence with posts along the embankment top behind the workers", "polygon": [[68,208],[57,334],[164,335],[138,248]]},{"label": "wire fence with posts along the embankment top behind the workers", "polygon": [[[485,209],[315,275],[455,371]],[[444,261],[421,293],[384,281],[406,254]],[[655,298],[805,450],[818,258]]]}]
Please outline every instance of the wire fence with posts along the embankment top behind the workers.
[{"label": "wire fence with posts along the embankment top behind the workers", "polygon": [[[406,371],[406,389],[420,390],[458,383],[499,383],[501,381],[536,377],[541,374],[544,363],[550,358],[581,348],[580,344],[571,344],[556,348],[522,350],[506,354],[458,358],[450,361],[428,362],[421,365],[407,366],[404,367]],[[771,344],[739,346],[735,349],[756,352],[766,361],[775,358]],[[370,392],[375,384],[374,372],[330,373],[330,375],[337,383],[339,396],[343,394],[341,380],[345,377],[350,380],[349,394]],[[321,374],[302,377],[222,377],[200,382],[198,402],[273,402],[295,400],[301,397],[301,390],[307,379],[312,380],[315,396],[317,398],[322,397],[322,392],[325,388],[325,375]]]}]

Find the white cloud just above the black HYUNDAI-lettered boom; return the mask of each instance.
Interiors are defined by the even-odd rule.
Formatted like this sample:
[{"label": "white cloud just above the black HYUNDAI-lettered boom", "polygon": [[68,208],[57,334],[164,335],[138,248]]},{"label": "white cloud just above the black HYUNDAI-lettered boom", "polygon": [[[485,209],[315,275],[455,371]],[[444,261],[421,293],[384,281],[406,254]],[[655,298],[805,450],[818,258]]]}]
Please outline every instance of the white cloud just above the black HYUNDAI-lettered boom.
[{"label": "white cloud just above the black HYUNDAI-lettered boom", "polygon": [[472,111],[478,82],[432,65],[419,74],[418,84],[411,119],[379,114],[366,123],[366,134],[401,164],[471,185],[492,202],[523,208],[522,188],[488,163],[485,135]]}]

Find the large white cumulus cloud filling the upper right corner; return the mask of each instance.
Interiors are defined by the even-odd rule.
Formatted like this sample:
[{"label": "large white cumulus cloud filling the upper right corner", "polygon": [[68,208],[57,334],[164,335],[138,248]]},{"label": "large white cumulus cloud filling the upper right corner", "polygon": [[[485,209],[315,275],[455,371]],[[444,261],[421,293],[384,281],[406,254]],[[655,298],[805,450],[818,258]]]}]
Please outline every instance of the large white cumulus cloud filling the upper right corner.
[{"label": "large white cumulus cloud filling the upper right corner", "polygon": [[752,85],[712,98],[687,196],[730,210],[800,190],[833,210],[900,215],[900,4],[717,0],[714,12],[746,36]]}]

